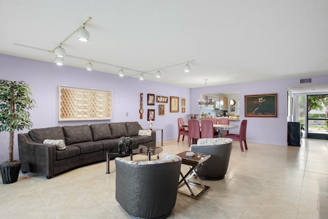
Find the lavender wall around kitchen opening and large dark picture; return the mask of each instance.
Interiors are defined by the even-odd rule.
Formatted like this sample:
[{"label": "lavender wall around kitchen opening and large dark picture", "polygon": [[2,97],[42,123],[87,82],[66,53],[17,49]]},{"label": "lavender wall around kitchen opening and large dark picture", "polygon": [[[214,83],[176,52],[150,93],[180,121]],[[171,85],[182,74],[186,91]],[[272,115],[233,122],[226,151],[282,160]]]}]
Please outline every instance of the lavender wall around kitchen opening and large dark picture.
[{"label": "lavender wall around kitchen opening and large dark picture", "polygon": [[[199,112],[196,104],[200,94],[204,93],[227,93],[239,91],[239,119],[248,120],[247,140],[248,142],[265,143],[279,146],[287,145],[287,92],[289,87],[298,87],[300,78],[284,79],[277,81],[234,84],[227,86],[206,87],[191,90],[191,110]],[[312,85],[328,83],[328,75],[312,77]],[[306,86],[306,85],[305,85]],[[244,117],[244,95],[278,93],[278,117]],[[232,122],[239,125],[240,122]],[[238,133],[239,129],[232,129],[230,133]]]}]

